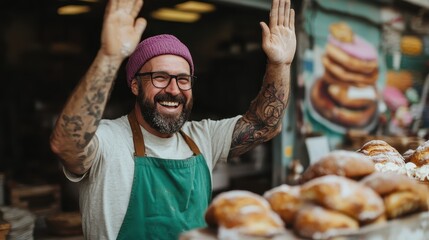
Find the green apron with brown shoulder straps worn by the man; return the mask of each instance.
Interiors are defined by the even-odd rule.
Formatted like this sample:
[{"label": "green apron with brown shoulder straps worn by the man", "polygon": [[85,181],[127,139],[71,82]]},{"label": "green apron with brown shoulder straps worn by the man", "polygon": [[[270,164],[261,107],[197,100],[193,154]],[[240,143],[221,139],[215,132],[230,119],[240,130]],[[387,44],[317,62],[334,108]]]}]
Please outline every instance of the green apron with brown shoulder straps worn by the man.
[{"label": "green apron with brown shoulder straps worn by the man", "polygon": [[134,179],[117,239],[178,239],[204,227],[211,198],[207,163],[195,142],[180,131],[194,153],[188,159],[145,156],[143,134],[134,111],[128,115],[134,140]]}]

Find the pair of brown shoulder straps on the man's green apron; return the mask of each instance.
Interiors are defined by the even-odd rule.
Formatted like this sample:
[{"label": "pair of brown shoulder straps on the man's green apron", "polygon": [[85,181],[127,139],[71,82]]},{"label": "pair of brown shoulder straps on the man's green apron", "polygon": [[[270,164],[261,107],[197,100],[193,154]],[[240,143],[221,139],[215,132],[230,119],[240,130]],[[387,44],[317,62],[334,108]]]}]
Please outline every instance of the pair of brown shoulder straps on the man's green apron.
[{"label": "pair of brown shoulder straps on the man's green apron", "polygon": [[[143,157],[145,155],[145,145],[144,145],[144,139],[143,134],[140,129],[140,125],[137,121],[136,113],[134,109],[128,114],[128,121],[130,122],[131,126],[131,132],[133,133],[133,142],[134,142],[134,155]],[[197,144],[188,136],[186,135],[182,130],[179,131],[182,137],[185,139],[185,142],[188,144],[189,148],[192,150],[194,155],[201,154],[200,149],[198,148]]]}]

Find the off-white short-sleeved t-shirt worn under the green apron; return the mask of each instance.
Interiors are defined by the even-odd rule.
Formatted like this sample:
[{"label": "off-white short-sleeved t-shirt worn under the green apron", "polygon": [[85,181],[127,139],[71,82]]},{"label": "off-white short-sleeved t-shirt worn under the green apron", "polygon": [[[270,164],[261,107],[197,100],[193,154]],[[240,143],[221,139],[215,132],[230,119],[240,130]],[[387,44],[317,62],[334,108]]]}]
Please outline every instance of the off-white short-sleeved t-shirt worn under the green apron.
[{"label": "off-white short-sleeved t-shirt worn under the green apron", "polygon": [[[217,161],[226,161],[232,132],[240,117],[190,121],[182,127],[197,144],[210,173]],[[148,156],[164,159],[192,156],[180,133],[171,138],[159,138],[140,128]],[[70,181],[79,182],[85,239],[116,239],[128,207],[134,176],[134,145],[127,116],[102,120],[95,136],[99,149],[91,169],[80,177],[66,170],[64,173]]]}]

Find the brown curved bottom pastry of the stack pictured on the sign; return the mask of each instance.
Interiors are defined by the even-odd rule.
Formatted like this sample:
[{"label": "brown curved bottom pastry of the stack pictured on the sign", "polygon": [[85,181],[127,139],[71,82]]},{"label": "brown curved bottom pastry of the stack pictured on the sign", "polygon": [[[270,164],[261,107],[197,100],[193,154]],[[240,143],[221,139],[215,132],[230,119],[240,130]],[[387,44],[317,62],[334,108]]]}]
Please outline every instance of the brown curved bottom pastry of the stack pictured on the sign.
[{"label": "brown curved bottom pastry of the stack pictured on the sign", "polygon": [[337,105],[327,94],[327,85],[320,79],[311,89],[311,103],[315,110],[331,122],[345,127],[363,127],[376,112],[376,103],[365,109],[349,109]]}]

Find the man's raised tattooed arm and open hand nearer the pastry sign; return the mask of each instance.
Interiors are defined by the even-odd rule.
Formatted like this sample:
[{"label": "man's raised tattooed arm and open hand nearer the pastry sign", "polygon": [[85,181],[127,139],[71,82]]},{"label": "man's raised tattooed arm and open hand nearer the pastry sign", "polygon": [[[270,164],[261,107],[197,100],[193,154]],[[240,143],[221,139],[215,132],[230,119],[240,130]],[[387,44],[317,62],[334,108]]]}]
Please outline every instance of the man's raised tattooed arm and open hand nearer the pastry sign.
[{"label": "man's raised tattooed arm and open hand nearer the pastry sign", "polygon": [[273,0],[269,26],[260,23],[262,48],[268,58],[264,82],[249,110],[235,125],[230,157],[247,152],[281,131],[296,49],[295,12],[290,5],[290,0]]}]

